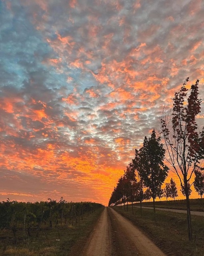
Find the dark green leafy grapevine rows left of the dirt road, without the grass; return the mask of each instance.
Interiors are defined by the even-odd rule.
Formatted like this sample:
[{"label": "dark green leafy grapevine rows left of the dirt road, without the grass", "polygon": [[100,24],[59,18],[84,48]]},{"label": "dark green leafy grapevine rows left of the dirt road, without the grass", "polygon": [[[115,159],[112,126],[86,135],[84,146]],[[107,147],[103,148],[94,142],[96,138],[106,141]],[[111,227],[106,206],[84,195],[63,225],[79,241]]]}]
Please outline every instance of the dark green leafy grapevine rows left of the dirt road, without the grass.
[{"label": "dark green leafy grapevine rows left of the dirt road, without the grass", "polygon": [[40,227],[41,223],[47,227],[52,227],[53,224],[56,227],[59,222],[67,225],[68,221],[76,221],[84,213],[93,212],[100,207],[102,205],[98,203],[66,202],[62,197],[59,202],[48,199],[40,203],[18,203],[8,199],[0,203],[0,229],[22,228],[24,221],[26,229]]}]

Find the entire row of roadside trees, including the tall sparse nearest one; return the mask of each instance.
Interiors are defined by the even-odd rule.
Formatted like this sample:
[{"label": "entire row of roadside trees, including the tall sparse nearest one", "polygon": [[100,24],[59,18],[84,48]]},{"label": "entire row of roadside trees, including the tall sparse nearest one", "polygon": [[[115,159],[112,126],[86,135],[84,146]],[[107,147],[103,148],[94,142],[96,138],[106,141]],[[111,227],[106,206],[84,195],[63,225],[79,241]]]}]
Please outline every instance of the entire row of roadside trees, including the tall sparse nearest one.
[{"label": "entire row of roadside trees, including the tall sparse nearest one", "polygon": [[[188,237],[192,240],[189,195],[193,174],[195,174],[195,189],[201,197],[203,195],[204,174],[203,168],[200,167],[200,160],[204,158],[204,127],[200,131],[196,123],[196,116],[201,109],[201,99],[198,98],[199,80],[192,84],[190,91],[186,88],[188,80],[189,78],[186,78],[180,91],[174,94],[172,111],[169,114],[164,111],[160,120],[164,145],[160,143],[161,137],[156,137],[155,130],[152,131],[150,138],[144,138],[143,146],[135,150],[135,158],[118,180],[109,205],[120,204],[125,199],[141,203],[146,193],[144,187],[146,187],[150,190],[155,213],[155,199],[161,197],[161,186],[171,168],[177,174],[181,191],[186,197]],[[165,157],[165,151],[168,157]],[[164,158],[170,167],[164,164]],[[164,193],[175,198],[176,191],[174,195],[169,192],[173,183],[172,180],[169,185],[166,185]]]}]

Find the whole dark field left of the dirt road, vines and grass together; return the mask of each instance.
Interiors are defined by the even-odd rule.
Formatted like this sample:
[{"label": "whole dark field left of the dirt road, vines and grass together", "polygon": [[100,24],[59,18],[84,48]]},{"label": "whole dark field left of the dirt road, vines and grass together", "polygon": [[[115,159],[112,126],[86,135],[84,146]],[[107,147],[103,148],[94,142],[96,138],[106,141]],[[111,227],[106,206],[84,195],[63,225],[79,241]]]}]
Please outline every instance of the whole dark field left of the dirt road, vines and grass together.
[{"label": "whole dark field left of the dirt road, vines and grass together", "polygon": [[0,256],[80,255],[103,209],[88,202],[4,202],[0,204]]}]

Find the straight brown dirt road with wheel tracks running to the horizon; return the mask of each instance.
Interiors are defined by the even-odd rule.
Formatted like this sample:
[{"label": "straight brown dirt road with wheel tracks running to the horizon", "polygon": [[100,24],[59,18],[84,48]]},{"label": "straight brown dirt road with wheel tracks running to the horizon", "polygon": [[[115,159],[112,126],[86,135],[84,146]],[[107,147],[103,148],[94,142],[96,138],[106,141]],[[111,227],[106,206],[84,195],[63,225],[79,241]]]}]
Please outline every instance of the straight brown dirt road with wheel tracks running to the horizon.
[{"label": "straight brown dirt road with wheel tracks running to the horizon", "polygon": [[165,256],[130,221],[105,207],[84,248],[85,256]]}]

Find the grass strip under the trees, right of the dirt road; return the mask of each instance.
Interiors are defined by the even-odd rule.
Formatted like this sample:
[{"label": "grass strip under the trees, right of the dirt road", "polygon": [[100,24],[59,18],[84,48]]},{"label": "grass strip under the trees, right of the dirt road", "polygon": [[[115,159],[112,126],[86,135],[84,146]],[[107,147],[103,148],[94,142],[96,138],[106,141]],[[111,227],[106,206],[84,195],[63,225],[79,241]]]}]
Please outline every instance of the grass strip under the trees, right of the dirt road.
[{"label": "grass strip under the trees, right of the dirt road", "polygon": [[186,214],[139,208],[124,211],[113,207],[118,213],[132,221],[163,252],[172,256],[204,256],[204,217],[192,216],[193,240],[188,240]]}]

